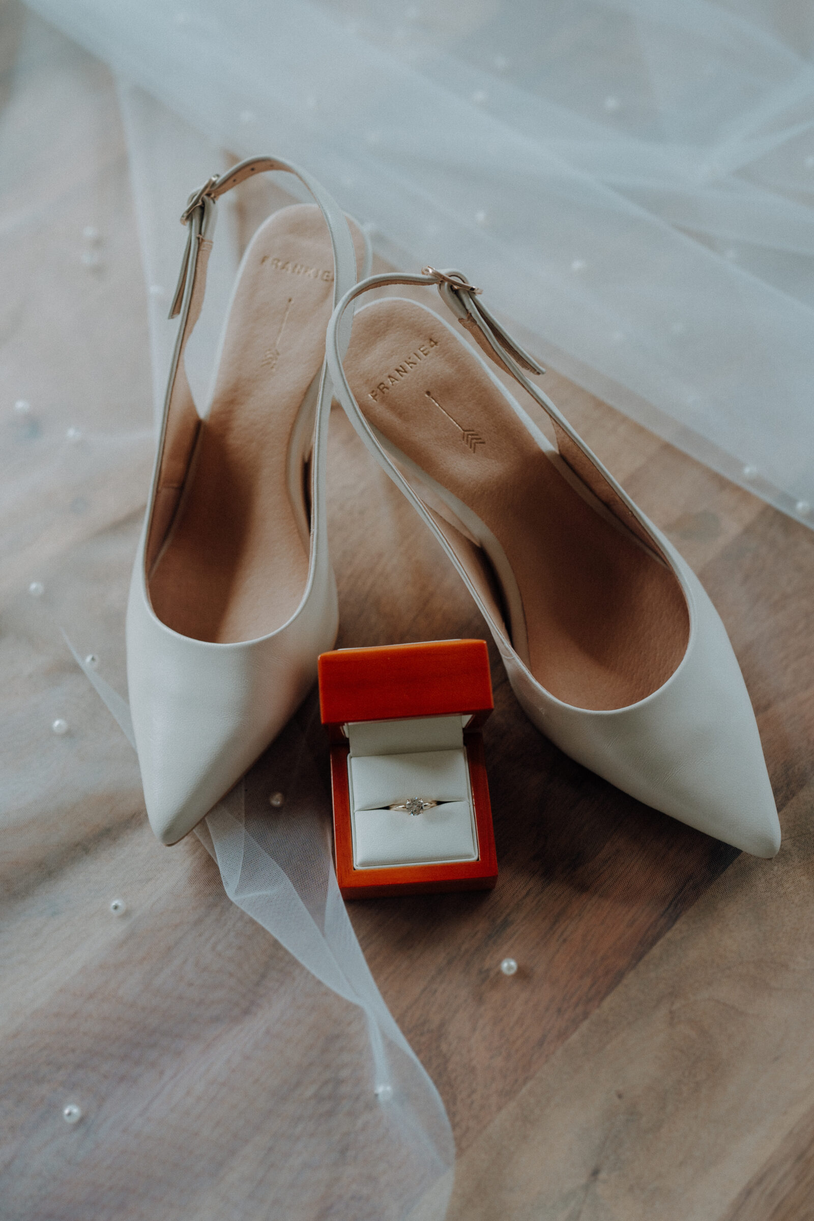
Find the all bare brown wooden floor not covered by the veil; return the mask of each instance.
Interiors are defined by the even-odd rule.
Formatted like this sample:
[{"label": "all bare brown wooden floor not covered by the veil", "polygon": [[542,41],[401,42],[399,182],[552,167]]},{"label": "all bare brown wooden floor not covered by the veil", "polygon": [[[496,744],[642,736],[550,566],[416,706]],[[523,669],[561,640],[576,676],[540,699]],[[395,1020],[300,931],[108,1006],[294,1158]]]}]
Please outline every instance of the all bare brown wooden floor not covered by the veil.
[{"label": "all bare brown wooden floor not covered by the veil", "polygon": [[[123,183],[121,132],[110,148]],[[31,189],[46,198],[52,181],[72,182],[74,161],[66,149]],[[74,194],[79,233],[85,203]],[[138,276],[133,231],[124,237],[129,278],[122,272],[111,299],[117,292],[143,328],[142,303],[122,287]],[[139,385],[140,410],[144,376]],[[771,862],[738,856],[578,767],[520,711],[489,640],[498,885],[354,902],[353,924],[453,1123],[450,1221],[805,1221],[814,532],[556,372],[544,386],[715,602],[752,694],[783,847]],[[145,474],[135,482],[140,496]],[[487,637],[441,549],[338,410],[330,530],[340,647]],[[311,697],[298,719],[327,777],[314,711]],[[517,960],[514,977],[499,971],[505,956]]]}]

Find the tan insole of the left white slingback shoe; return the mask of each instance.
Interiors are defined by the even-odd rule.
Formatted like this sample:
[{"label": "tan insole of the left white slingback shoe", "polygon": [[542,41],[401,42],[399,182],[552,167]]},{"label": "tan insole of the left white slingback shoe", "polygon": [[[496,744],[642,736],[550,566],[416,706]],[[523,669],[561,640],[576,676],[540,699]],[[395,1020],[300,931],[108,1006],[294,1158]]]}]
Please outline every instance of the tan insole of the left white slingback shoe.
[{"label": "tan insole of the left white slingback shoe", "polygon": [[[364,239],[350,228],[361,270]],[[312,422],[301,443],[294,425],[322,366],[332,293],[333,254],[319,208],[297,204],[270,216],[245,255],[211,409],[149,573],[156,615],[184,636],[253,640],[300,603],[309,567],[303,459]]]}]

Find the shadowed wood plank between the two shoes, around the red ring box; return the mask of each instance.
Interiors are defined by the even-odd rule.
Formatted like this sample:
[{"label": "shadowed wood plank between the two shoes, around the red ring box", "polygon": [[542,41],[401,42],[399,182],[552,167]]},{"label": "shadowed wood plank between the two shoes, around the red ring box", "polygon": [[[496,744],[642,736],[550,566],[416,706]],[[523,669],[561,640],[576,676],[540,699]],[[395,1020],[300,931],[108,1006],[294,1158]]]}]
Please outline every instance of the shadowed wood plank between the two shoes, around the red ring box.
[{"label": "shadowed wood plank between the two shoes, around the red ring box", "polygon": [[[338,413],[331,444],[339,645],[486,637],[456,574]],[[438,1084],[460,1148],[737,855],[558,751],[520,711],[491,640],[489,648],[495,891],[351,907],[384,999]],[[520,963],[511,978],[498,969],[504,956]]]}]

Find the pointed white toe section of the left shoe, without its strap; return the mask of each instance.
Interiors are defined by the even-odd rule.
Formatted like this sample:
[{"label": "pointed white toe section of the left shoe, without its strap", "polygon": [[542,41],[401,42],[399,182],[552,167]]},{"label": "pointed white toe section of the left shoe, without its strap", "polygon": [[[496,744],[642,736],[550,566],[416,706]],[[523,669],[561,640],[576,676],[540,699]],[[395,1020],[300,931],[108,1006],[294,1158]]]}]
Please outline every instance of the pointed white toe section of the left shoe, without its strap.
[{"label": "pointed white toe section of the left shoe, without its strap", "polygon": [[[298,613],[256,641],[181,636],[153,613],[139,546],[127,607],[127,683],[150,825],[175,844],[266,748],[316,680],[338,629],[327,545]],[[322,552],[325,554],[322,554]]]}]

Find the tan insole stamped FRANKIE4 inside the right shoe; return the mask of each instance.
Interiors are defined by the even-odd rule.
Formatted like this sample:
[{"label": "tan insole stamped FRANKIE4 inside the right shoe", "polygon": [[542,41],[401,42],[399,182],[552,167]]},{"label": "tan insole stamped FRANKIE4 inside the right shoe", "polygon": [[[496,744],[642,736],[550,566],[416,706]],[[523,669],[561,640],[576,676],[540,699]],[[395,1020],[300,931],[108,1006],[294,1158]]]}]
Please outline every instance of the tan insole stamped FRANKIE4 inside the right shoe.
[{"label": "tan insole stamped FRANKIE4 inside the right shoe", "polygon": [[345,370],[369,421],[497,537],[535,678],[597,709],[661,686],[688,637],[676,578],[566,482],[471,349],[431,310],[386,299],[356,314]]}]

